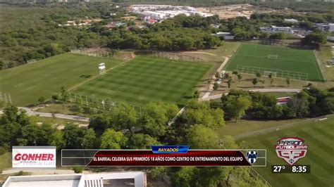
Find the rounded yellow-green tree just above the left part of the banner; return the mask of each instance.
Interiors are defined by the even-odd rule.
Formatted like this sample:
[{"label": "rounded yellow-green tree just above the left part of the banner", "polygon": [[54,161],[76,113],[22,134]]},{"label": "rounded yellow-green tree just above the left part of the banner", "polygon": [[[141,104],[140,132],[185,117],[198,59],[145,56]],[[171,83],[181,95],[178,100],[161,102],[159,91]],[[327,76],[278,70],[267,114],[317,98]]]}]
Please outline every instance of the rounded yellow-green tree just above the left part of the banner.
[{"label": "rounded yellow-green tree just above the left part of the banner", "polygon": [[122,132],[113,129],[107,129],[101,136],[102,149],[120,149],[123,148],[128,141]]}]

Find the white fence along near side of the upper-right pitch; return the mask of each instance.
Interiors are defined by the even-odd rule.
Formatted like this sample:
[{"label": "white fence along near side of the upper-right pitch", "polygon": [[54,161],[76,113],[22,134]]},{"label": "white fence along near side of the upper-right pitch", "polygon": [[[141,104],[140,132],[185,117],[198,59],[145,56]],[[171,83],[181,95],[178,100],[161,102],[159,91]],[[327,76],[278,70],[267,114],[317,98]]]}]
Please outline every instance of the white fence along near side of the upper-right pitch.
[{"label": "white fence along near side of the upper-right pitch", "polygon": [[246,66],[246,65],[237,65],[237,71],[248,74],[256,74],[257,72],[262,75],[268,74],[271,72],[273,76],[282,77],[282,78],[291,78],[291,79],[299,79],[299,80],[307,80],[309,77],[308,73],[304,72],[292,72],[287,70],[279,70],[279,69],[270,69],[264,67],[254,67],[254,66]]}]

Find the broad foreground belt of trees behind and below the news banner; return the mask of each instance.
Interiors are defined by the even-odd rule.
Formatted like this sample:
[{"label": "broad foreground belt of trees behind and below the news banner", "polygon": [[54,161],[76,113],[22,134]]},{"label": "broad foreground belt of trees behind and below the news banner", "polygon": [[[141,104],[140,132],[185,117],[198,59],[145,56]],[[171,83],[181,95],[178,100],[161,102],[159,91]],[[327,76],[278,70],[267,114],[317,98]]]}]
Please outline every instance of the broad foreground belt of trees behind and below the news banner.
[{"label": "broad foreground belt of trees behind and below the news banner", "polygon": [[[25,112],[9,106],[0,117],[0,151],[11,146],[56,146],[61,148],[143,149],[151,145],[189,145],[191,148],[239,148],[231,136],[219,137],[225,125],[223,110],[209,102],[191,101],[180,122],[168,126],[178,106],[147,103],[142,112],[130,105],[92,117],[88,128],[67,124],[56,129],[37,124]],[[246,167],[154,167],[149,174],[171,176],[172,186],[265,186]]]}]

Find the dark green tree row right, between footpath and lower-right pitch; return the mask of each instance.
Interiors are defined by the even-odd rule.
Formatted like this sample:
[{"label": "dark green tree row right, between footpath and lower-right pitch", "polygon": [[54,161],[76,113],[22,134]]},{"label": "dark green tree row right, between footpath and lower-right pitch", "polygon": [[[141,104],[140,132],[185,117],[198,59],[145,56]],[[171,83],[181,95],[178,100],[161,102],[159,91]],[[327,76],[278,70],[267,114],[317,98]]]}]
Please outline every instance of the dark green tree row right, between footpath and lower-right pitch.
[{"label": "dark green tree row right, between footpath and lower-right pitch", "polygon": [[232,90],[221,101],[211,101],[211,107],[222,108],[225,120],[237,120],[243,115],[254,120],[318,117],[334,113],[334,93],[310,87],[296,93],[286,105],[277,105],[275,96]]}]

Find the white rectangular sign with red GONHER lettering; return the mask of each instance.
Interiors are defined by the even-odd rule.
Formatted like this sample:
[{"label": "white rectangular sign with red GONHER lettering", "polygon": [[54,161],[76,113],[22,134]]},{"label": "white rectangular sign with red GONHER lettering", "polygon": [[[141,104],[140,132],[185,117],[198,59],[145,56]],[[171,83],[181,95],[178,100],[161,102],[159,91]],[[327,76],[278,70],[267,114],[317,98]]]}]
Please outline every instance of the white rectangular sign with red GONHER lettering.
[{"label": "white rectangular sign with red GONHER lettering", "polygon": [[56,167],[54,146],[13,146],[13,167]]}]

